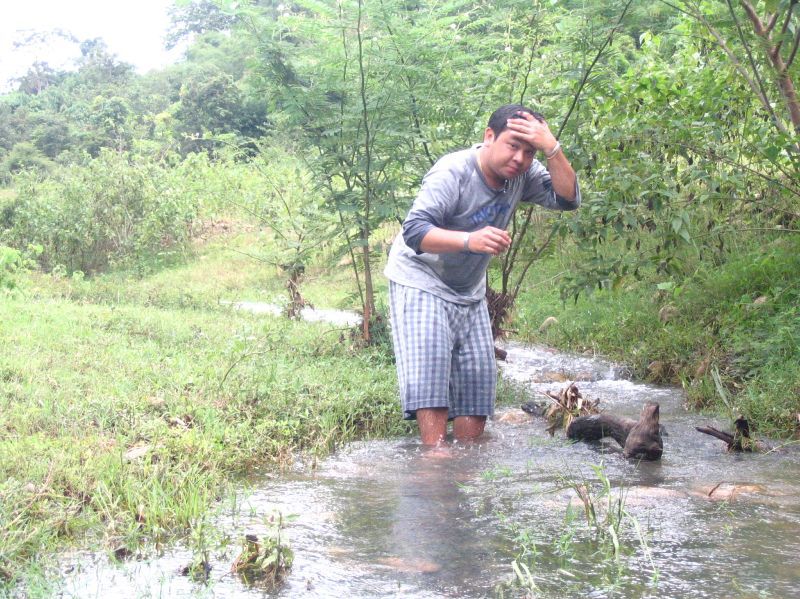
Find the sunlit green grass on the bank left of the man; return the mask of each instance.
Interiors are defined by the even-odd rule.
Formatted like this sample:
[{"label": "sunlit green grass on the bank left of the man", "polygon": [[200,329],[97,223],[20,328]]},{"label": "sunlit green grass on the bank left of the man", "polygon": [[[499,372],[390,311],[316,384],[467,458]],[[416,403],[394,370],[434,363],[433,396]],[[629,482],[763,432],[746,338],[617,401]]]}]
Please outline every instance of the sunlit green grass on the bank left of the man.
[{"label": "sunlit green grass on the bank left of the man", "polygon": [[38,275],[0,296],[0,588],[59,547],[183,535],[255,467],[407,431],[385,347],[219,306],[263,274],[207,256],[228,278]]}]

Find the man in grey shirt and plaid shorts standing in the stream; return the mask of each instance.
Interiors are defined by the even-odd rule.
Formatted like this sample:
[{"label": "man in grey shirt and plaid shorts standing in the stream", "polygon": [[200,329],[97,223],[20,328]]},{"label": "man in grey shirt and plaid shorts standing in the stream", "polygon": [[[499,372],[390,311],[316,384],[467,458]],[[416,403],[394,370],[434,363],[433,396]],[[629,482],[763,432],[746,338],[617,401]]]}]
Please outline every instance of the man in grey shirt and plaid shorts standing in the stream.
[{"label": "man in grey shirt and plaid shorts standing in the stream", "polygon": [[574,210],[580,191],[544,119],[509,104],[492,114],[482,144],[425,175],[392,245],[385,274],[400,396],[424,445],[443,443],[449,420],[457,441],[474,440],[494,413],[486,269],[511,244],[506,228],[521,201]]}]

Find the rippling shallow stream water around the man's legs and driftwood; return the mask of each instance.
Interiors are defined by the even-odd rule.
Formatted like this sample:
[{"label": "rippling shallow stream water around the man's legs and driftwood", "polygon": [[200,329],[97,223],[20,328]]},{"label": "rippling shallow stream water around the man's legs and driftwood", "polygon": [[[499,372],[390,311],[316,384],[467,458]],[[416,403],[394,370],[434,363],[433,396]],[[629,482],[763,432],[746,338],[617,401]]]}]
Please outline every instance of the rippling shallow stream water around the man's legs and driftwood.
[{"label": "rippling shallow stream water around the man's legs and driftwood", "polygon": [[[531,596],[800,597],[795,447],[726,454],[694,427],[727,423],[688,414],[678,389],[630,382],[623,369],[594,359],[508,349],[503,376],[532,393],[558,390],[563,381],[547,381],[566,377],[612,413],[636,417],[643,402],[659,402],[668,435],[662,460],[637,464],[613,442],[550,437],[543,421],[507,408],[485,441],[449,456],[413,439],[374,441],[316,468],[253,480],[215,522],[231,542],[209,542],[207,583],[180,575],[192,557],[186,547],[121,565],[76,554],[63,564],[62,595],[522,597],[526,591],[511,584],[519,557],[536,585]],[[569,489],[585,482],[602,519],[598,471],[613,497],[624,496],[618,560],[599,549]],[[265,515],[276,510],[295,517],[285,533],[296,557],[285,584],[268,593],[229,571],[236,540],[262,534]]]}]

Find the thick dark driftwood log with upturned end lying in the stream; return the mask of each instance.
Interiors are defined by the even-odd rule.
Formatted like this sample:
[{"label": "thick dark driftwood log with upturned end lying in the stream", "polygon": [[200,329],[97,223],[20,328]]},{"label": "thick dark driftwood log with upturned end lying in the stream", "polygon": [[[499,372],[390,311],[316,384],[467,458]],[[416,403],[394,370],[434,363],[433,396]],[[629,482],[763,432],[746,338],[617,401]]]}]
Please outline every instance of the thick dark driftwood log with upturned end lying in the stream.
[{"label": "thick dark driftwood log with upturned end lying in the stream", "polygon": [[580,416],[569,423],[567,437],[582,441],[611,437],[620,444],[626,458],[637,460],[659,460],[664,452],[657,403],[645,404],[639,420],[610,414]]}]

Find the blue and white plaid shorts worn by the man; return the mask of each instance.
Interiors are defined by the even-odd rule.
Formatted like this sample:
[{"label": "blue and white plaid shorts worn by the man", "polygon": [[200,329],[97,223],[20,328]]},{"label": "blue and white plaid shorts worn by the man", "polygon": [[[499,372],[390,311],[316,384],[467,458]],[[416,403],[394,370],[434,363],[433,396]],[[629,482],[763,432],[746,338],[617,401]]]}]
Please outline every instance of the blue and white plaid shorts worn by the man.
[{"label": "blue and white plaid shorts worn by the man", "polygon": [[455,304],[393,281],[389,296],[403,417],[420,408],[491,416],[497,365],[486,300]]}]

